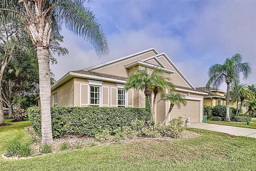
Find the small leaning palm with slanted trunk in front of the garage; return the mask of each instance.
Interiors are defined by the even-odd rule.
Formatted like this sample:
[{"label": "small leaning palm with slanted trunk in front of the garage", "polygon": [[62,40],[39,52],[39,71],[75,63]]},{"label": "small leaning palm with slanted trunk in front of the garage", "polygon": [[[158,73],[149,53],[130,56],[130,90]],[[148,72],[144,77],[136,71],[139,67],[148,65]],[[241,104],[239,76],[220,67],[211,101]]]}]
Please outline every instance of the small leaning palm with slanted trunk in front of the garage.
[{"label": "small leaning palm with slanted trunk in front of the garage", "polygon": [[164,121],[162,122],[163,125],[168,119],[174,105],[176,105],[178,109],[180,109],[181,105],[186,106],[187,104],[185,96],[180,93],[175,93],[174,91],[170,91],[168,94],[162,94],[159,101],[170,101],[170,108]]}]

